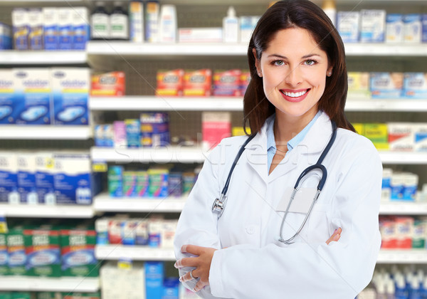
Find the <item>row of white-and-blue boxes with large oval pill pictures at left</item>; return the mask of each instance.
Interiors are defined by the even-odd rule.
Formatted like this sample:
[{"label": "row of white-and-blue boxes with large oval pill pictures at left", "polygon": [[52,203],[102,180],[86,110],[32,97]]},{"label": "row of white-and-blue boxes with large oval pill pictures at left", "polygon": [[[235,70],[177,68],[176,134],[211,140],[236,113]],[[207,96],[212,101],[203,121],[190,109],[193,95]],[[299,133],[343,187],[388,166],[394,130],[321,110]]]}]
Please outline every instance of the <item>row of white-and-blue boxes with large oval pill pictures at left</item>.
[{"label": "row of white-and-blue boxes with large oval pill pictures at left", "polygon": [[0,70],[0,124],[88,125],[88,68]]}]

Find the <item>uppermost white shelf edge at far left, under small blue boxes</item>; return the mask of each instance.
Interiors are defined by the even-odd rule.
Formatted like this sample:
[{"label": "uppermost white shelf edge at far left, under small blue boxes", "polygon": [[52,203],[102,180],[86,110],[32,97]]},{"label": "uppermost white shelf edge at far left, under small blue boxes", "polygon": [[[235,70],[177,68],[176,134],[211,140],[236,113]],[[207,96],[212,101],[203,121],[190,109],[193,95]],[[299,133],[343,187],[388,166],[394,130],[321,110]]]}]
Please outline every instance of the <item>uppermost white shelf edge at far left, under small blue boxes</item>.
[{"label": "uppermost white shelf edge at far left, under small blue boxes", "polygon": [[85,51],[0,51],[1,65],[75,65],[87,62]]}]

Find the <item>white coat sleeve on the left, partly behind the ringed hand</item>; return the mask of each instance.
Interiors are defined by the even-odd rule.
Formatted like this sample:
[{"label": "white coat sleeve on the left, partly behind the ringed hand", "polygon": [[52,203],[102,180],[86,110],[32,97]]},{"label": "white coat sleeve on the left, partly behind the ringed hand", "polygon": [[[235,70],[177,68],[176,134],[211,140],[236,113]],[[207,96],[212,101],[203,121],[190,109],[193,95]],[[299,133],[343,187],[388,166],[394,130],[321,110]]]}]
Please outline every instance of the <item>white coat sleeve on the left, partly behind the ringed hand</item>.
[{"label": "white coat sleeve on the left, partly behind the ringed hand", "polygon": [[[191,190],[179,217],[174,238],[176,260],[191,256],[189,253],[181,253],[181,246],[185,244],[221,248],[216,229],[218,217],[212,213],[211,207],[214,199],[221,194],[218,183],[218,167],[221,163],[222,145],[221,143],[214,148],[204,162],[197,182]],[[191,267],[181,268],[179,269],[179,276],[183,276],[193,269]],[[196,282],[196,280],[190,280],[184,283],[184,286],[193,290]],[[200,290],[197,295],[202,298],[216,298],[211,295],[209,285]]]}]

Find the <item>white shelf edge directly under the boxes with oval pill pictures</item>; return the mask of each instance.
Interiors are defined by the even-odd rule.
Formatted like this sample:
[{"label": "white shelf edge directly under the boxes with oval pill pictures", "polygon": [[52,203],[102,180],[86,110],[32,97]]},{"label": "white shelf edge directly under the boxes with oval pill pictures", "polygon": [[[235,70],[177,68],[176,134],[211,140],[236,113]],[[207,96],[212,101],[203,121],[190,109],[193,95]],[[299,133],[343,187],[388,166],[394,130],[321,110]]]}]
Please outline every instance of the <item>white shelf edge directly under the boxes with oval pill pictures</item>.
[{"label": "white shelf edge directly under the boxes with oval pill pictures", "polygon": [[92,136],[92,127],[87,125],[0,125],[0,139],[88,140]]}]

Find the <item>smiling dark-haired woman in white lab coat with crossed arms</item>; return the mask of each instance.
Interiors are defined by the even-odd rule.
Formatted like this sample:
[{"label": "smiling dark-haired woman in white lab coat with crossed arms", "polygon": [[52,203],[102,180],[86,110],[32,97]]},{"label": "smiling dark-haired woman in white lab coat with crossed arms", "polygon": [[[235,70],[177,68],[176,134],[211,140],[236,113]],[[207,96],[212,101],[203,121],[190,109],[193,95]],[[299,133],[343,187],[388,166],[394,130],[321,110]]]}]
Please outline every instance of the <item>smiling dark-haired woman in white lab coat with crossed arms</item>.
[{"label": "smiling dark-haired woman in white lab coat with crossed arms", "polygon": [[[382,167],[344,115],[344,58],[337,30],[310,1],[280,1],[258,21],[244,97],[255,137],[233,171],[222,216],[212,204],[248,137],[226,138],[211,152],[176,229],[175,266],[201,297],[345,299],[371,280]],[[333,122],[325,187],[302,226],[322,177],[309,172],[282,227],[292,188],[327,148]]]}]

